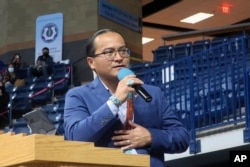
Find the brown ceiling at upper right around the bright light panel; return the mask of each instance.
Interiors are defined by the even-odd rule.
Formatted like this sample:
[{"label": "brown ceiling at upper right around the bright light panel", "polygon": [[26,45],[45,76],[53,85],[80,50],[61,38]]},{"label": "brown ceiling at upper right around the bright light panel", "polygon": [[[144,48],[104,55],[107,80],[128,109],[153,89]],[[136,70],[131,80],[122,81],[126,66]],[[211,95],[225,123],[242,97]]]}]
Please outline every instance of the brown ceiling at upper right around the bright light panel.
[{"label": "brown ceiling at upper right around the bright light panel", "polygon": [[[222,12],[223,4],[230,6],[229,13]],[[180,22],[198,12],[213,13],[214,17],[196,24]],[[142,15],[143,36],[155,39],[143,45],[143,59],[152,61],[152,51],[164,44],[163,35],[250,23],[250,0],[142,0]],[[198,39],[201,37],[168,43]]]}]

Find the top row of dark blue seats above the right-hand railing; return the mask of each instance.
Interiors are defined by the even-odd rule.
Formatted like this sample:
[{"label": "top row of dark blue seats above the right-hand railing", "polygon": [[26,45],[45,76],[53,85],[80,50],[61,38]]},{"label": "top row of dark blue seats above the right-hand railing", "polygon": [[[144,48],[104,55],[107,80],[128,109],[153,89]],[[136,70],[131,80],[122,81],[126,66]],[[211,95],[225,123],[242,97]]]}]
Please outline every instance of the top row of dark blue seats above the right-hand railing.
[{"label": "top row of dark blue seats above the right-hand railing", "polygon": [[[221,47],[220,52],[230,52],[230,49],[238,49],[240,48],[240,43],[236,44],[231,43],[229,46],[227,43],[234,39],[235,41],[239,40],[240,36],[235,37],[216,37],[213,39],[204,39],[197,40],[193,42],[184,42],[178,44],[169,44],[159,46],[156,50],[153,51],[153,62],[145,62],[145,63],[136,63],[131,65],[131,69],[137,74],[141,74],[146,70],[154,69],[155,67],[159,67],[162,64],[167,64],[170,61],[178,60],[179,58],[192,56],[195,54],[199,54],[200,52],[210,50],[217,46],[223,45]],[[250,50],[250,36],[243,36],[245,39],[245,45],[248,49],[248,53]]]}]

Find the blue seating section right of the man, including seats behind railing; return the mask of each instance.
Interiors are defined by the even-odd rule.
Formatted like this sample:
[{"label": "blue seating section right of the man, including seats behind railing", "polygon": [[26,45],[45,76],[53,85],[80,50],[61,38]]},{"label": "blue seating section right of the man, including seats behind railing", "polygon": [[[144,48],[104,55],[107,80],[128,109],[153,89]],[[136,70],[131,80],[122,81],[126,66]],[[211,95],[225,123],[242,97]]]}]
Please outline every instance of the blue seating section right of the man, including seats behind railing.
[{"label": "blue seating section right of the man, including seats behind railing", "polygon": [[144,83],[162,88],[192,132],[236,123],[249,112],[249,41],[237,36],[161,46],[154,62],[131,69]]}]

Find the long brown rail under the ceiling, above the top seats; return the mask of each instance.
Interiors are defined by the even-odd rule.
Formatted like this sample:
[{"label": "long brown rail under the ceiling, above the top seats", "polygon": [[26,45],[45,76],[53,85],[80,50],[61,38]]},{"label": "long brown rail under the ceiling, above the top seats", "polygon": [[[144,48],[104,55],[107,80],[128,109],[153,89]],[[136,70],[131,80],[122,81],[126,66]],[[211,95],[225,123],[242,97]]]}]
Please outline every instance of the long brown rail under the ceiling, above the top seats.
[{"label": "long brown rail under the ceiling, above the top seats", "polygon": [[248,29],[250,30],[250,23],[242,23],[242,24],[229,25],[229,26],[223,26],[223,27],[209,28],[209,29],[204,29],[204,30],[189,31],[189,32],[178,33],[178,34],[163,35],[161,38],[164,41],[171,41],[171,40],[184,39],[184,38],[197,37],[197,36],[212,36],[212,35],[218,35],[221,33],[235,32],[235,31],[244,32],[245,30],[248,30]]}]

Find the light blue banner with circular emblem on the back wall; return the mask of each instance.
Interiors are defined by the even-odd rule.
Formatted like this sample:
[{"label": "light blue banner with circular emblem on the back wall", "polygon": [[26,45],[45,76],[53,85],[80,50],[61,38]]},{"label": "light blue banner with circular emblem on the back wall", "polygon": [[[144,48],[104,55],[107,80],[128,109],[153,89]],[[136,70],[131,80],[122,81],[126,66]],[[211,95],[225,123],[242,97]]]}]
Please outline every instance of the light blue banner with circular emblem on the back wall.
[{"label": "light blue banner with circular emblem on the back wall", "polygon": [[44,47],[49,48],[49,54],[54,62],[62,60],[63,44],[63,14],[53,13],[38,16],[36,19],[35,61],[42,55]]}]

